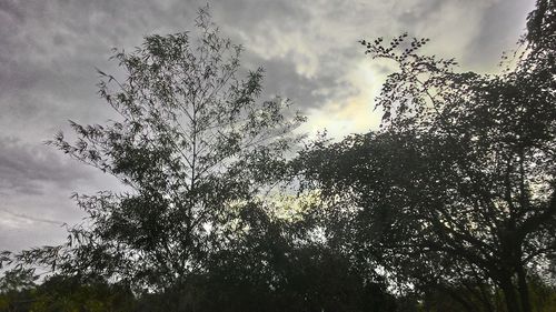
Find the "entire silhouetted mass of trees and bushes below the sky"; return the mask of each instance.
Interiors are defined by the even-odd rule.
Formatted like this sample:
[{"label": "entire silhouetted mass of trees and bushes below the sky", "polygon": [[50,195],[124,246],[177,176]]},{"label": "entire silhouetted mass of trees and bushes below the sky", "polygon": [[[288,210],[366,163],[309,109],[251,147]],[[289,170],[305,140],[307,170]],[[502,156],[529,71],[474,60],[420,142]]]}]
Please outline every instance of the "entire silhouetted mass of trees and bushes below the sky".
[{"label": "entire silhouetted mass of trees and bushes below the sky", "polygon": [[305,119],[260,100],[262,69],[207,9],[197,32],[115,50],[113,120],[49,143],[126,191],[75,194],[66,244],[0,253],[0,310],[553,311],[555,17],[537,1],[499,73],[361,40],[396,66],[380,130],[302,150]]}]

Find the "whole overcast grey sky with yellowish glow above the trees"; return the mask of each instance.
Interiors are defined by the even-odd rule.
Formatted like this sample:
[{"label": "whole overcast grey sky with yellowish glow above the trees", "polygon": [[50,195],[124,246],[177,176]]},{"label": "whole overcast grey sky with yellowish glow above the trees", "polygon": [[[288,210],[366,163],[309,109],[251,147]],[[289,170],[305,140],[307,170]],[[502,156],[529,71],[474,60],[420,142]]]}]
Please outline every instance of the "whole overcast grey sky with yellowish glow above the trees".
[{"label": "whole overcast grey sky with yellowish glow above the trees", "polygon": [[[376,130],[374,98],[390,70],[365,57],[360,39],[403,32],[458,70],[493,72],[515,48],[534,0],[208,1],[222,36],[242,44],[242,66],[266,70],[265,95],[288,98],[308,117],[300,131],[331,137]],[[103,123],[99,76],[117,71],[111,48],[148,34],[191,30],[207,1],[0,0],[0,251],[63,242],[81,221],[75,192],[116,181],[44,144],[68,120]]]}]

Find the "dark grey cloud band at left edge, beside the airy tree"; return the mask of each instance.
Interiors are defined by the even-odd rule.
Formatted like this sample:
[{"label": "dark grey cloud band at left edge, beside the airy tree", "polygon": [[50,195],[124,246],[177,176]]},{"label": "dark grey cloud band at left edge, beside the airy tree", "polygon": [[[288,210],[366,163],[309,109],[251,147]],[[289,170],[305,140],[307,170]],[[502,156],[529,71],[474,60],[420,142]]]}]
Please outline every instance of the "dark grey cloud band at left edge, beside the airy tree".
[{"label": "dark grey cloud band at left edge, beside the airy tree", "polygon": [[0,195],[41,194],[44,183],[68,188],[87,177],[81,167],[62,162],[47,147],[0,137]]}]

